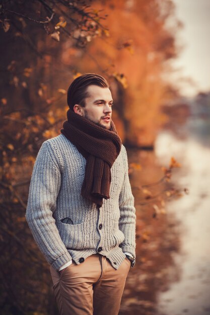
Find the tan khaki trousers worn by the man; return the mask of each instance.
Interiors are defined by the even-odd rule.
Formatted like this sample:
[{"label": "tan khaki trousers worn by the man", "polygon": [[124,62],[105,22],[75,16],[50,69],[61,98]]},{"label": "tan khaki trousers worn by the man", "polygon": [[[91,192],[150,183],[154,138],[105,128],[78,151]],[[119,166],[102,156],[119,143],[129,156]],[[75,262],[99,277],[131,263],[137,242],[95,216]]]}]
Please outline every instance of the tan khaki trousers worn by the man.
[{"label": "tan khaki trousers worn by the man", "polygon": [[50,266],[60,315],[117,315],[129,269],[127,258],[116,270],[100,254],[73,261],[61,274]]}]

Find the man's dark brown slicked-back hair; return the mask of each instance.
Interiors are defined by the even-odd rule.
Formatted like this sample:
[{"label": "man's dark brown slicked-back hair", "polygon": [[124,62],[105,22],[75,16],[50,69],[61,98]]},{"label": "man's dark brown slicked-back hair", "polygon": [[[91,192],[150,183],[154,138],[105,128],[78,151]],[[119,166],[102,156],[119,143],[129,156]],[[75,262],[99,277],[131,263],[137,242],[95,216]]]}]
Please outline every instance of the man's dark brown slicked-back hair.
[{"label": "man's dark brown slicked-back hair", "polygon": [[89,97],[87,88],[90,85],[109,88],[109,84],[106,79],[99,74],[86,73],[76,77],[67,91],[67,103],[72,111],[74,111],[75,104],[85,107],[85,99]]}]

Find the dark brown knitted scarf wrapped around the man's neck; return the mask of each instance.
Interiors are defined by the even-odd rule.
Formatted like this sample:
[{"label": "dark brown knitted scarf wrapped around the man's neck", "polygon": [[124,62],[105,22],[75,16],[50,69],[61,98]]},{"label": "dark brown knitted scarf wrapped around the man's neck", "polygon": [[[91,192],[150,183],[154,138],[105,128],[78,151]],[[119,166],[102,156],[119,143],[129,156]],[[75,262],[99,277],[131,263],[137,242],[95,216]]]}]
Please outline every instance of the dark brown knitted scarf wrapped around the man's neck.
[{"label": "dark brown knitted scarf wrapped around the man's neck", "polygon": [[69,109],[60,132],[87,160],[82,196],[101,207],[103,198],[110,198],[110,169],[122,144],[113,121],[108,130]]}]

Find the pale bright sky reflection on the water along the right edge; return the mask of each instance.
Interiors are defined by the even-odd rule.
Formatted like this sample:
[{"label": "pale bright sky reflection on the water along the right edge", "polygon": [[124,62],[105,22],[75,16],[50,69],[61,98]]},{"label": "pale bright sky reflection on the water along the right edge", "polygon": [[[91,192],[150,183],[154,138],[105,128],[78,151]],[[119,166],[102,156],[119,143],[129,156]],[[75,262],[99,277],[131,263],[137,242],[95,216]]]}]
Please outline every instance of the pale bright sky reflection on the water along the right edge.
[{"label": "pale bright sky reflection on the water along the right edge", "polygon": [[177,174],[176,183],[190,193],[168,205],[168,211],[175,213],[182,225],[181,253],[174,257],[181,277],[169,290],[159,293],[159,313],[210,314],[210,148],[194,138],[181,141],[161,133],[156,155],[162,161],[168,156],[164,147],[182,161],[184,171]]}]

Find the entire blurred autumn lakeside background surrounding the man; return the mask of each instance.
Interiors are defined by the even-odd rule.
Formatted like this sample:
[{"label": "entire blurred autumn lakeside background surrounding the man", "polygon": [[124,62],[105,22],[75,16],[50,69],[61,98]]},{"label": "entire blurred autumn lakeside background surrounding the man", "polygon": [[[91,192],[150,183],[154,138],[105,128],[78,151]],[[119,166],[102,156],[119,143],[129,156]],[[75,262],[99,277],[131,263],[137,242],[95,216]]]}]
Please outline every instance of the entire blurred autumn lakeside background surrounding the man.
[{"label": "entire blurred autumn lakeside background surrounding the man", "polygon": [[110,83],[135,198],[119,314],[210,314],[209,21],[209,0],[0,1],[1,314],[58,314],[25,211],[38,150],[87,72]]}]

